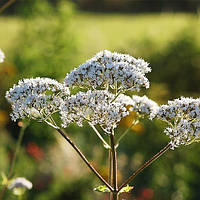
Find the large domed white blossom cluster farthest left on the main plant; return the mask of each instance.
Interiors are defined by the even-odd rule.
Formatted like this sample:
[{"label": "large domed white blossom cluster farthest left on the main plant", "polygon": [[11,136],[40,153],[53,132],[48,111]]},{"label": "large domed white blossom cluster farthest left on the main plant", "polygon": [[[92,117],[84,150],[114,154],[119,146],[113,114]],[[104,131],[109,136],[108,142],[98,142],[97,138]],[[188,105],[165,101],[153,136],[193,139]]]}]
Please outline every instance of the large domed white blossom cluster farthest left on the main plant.
[{"label": "large domed white blossom cluster farthest left on the main plant", "polygon": [[6,98],[12,105],[12,120],[44,119],[59,109],[62,96],[69,93],[69,89],[56,80],[38,77],[20,80],[6,92]]}]

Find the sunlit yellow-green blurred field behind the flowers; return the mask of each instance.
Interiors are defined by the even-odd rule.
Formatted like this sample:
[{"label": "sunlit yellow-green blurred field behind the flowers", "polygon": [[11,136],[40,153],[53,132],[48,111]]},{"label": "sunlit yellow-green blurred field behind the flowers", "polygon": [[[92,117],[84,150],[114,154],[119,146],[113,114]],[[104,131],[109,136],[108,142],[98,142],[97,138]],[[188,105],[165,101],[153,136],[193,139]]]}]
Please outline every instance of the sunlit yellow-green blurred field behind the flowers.
[{"label": "sunlit yellow-green blurred field behind the flowers", "polygon": [[[102,49],[131,48],[133,43],[151,38],[154,48],[163,48],[176,34],[190,27],[200,41],[200,17],[190,14],[76,14],[72,22],[79,35],[83,61]],[[0,18],[0,44],[5,51],[15,43],[23,20]],[[194,29],[195,28],[195,29]],[[81,60],[82,60],[81,59]]]}]

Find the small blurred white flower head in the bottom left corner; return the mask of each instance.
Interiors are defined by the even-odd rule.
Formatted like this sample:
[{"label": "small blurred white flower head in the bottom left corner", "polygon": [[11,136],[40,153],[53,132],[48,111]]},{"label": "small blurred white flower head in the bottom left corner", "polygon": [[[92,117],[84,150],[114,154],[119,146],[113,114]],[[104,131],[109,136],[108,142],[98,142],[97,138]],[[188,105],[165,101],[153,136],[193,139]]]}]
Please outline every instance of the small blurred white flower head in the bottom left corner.
[{"label": "small blurred white flower head in the bottom left corner", "polygon": [[16,179],[14,179],[8,185],[9,190],[12,190],[12,189],[15,189],[15,188],[26,188],[26,189],[30,190],[32,187],[33,187],[33,184],[23,177],[18,177]]}]

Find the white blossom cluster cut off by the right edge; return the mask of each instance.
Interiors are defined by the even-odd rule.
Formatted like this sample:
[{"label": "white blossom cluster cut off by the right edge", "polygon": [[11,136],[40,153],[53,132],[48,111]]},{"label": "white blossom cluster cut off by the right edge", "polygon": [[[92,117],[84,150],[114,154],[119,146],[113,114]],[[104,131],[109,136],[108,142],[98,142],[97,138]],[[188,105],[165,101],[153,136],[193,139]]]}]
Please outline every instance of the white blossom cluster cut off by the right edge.
[{"label": "white blossom cluster cut off by the right edge", "polygon": [[159,108],[157,117],[170,126],[165,129],[172,149],[200,139],[200,99],[181,97]]}]

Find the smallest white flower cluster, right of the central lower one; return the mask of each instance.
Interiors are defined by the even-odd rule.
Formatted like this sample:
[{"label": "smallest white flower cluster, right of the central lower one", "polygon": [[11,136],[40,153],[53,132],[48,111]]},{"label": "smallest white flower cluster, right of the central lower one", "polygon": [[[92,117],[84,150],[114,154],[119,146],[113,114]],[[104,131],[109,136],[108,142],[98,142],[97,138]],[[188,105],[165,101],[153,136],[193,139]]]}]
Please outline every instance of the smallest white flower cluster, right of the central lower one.
[{"label": "smallest white flower cluster, right of the central lower one", "polygon": [[136,111],[141,116],[149,116],[153,119],[159,110],[158,104],[149,99],[147,96],[132,96],[132,110]]}]

